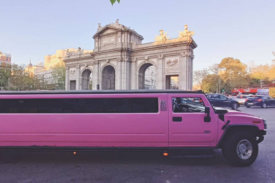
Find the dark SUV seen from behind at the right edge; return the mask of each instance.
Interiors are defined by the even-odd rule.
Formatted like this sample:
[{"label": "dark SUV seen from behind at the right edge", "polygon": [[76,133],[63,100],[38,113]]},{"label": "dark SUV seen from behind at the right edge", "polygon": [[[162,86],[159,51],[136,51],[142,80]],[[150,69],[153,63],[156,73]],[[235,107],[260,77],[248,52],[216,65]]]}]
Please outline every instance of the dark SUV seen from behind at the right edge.
[{"label": "dark SUV seen from behind at the right edge", "polygon": [[275,98],[269,95],[256,95],[247,98],[244,103],[245,107],[259,106],[266,108],[267,106],[275,106]]}]

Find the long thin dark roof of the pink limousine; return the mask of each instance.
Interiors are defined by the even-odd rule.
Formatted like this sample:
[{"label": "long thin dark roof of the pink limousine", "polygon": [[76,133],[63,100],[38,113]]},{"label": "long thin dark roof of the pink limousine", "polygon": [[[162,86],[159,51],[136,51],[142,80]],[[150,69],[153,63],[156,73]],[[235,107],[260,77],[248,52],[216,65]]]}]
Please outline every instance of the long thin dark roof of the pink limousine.
[{"label": "long thin dark roof of the pink limousine", "polygon": [[202,91],[188,91],[181,89],[132,89],[132,90],[40,90],[40,91],[0,91],[0,95],[18,94],[154,94],[154,93],[184,93],[204,94]]}]

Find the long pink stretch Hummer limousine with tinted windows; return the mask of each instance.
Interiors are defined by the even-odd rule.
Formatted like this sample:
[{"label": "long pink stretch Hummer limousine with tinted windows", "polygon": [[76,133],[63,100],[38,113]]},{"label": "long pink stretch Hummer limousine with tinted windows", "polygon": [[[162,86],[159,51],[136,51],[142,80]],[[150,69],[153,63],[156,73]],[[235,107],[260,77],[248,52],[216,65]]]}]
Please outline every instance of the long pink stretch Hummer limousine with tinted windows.
[{"label": "long pink stretch Hummer limousine with tinted windows", "polygon": [[249,166],[266,121],[213,108],[201,91],[85,90],[0,92],[2,150],[222,149]]}]

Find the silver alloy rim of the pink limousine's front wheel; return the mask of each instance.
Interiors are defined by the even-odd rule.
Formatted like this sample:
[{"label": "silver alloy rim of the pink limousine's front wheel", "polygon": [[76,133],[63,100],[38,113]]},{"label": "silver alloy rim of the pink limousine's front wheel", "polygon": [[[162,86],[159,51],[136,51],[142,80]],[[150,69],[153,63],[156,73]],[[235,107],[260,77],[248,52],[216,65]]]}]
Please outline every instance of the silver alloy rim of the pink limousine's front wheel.
[{"label": "silver alloy rim of the pink limousine's front wheel", "polygon": [[246,160],[252,155],[252,144],[249,140],[241,140],[237,145],[237,154],[238,156]]}]

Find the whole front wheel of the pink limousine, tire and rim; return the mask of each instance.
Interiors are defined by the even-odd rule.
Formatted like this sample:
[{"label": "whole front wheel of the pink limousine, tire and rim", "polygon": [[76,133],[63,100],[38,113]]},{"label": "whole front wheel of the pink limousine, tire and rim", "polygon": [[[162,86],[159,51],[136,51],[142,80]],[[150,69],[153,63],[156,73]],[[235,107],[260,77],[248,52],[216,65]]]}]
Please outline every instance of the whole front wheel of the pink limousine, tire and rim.
[{"label": "whole front wheel of the pink limousine, tire and rim", "polygon": [[258,156],[256,136],[246,131],[233,132],[225,138],[222,153],[232,165],[249,166]]}]

